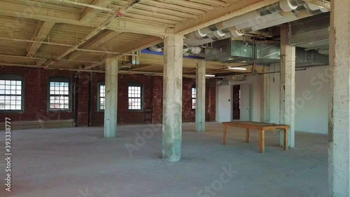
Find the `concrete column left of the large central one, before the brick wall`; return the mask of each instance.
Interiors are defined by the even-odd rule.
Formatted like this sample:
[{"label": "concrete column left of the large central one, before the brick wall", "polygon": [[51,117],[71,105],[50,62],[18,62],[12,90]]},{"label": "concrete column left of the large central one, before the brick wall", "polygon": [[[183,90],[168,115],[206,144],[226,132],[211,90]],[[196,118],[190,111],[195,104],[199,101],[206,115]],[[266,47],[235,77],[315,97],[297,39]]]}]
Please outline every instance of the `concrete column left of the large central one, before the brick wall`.
[{"label": "concrete column left of the large central one, before the brick wall", "polygon": [[118,60],[106,59],[104,137],[117,137]]}]

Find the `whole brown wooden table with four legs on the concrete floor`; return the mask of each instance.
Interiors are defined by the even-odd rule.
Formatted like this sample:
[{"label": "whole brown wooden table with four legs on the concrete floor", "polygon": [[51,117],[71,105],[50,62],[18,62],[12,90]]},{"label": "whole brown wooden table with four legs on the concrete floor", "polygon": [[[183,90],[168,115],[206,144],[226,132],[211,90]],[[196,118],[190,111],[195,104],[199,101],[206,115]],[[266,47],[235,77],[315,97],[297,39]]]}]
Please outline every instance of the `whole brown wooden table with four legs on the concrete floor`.
[{"label": "whole brown wooden table with four legs on the concrete floor", "polygon": [[265,151],[265,130],[284,130],[284,140],[283,140],[283,148],[284,150],[288,149],[288,130],[290,128],[289,125],[278,125],[272,123],[258,123],[258,122],[224,122],[223,123],[223,144],[227,142],[227,134],[228,134],[228,126],[246,128],[246,143],[250,141],[251,129],[260,130],[259,137],[259,150],[260,153],[264,153]]}]

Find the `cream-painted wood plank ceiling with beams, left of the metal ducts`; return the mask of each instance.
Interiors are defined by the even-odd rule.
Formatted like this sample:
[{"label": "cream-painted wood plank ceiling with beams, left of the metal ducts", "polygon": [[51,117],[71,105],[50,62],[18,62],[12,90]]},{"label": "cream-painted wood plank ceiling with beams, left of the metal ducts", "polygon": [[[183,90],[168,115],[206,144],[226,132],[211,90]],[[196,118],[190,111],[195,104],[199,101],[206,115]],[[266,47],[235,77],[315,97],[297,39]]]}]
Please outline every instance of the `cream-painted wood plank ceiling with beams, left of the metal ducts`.
[{"label": "cream-painted wood plank ceiling with beams, left of the metal ducts", "polygon": [[[161,74],[162,56],[141,54],[140,64],[132,65],[131,53],[162,42],[174,29],[199,29],[203,18],[206,25],[225,20],[241,4],[256,9],[274,1],[0,0],[0,65],[103,72],[105,57],[116,56],[123,73]],[[184,74],[195,74],[197,62],[184,58]],[[228,66],[208,62],[207,72]]]}]

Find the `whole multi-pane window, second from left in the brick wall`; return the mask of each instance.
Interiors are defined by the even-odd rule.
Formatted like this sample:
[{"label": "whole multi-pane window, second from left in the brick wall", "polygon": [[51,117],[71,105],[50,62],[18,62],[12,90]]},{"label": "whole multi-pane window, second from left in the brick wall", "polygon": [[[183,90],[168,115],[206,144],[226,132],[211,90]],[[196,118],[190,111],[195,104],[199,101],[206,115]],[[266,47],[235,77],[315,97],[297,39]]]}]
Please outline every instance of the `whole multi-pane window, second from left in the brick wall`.
[{"label": "whole multi-pane window, second from left in the brick wall", "polygon": [[50,79],[48,110],[70,111],[71,110],[71,88],[70,79],[53,77]]}]

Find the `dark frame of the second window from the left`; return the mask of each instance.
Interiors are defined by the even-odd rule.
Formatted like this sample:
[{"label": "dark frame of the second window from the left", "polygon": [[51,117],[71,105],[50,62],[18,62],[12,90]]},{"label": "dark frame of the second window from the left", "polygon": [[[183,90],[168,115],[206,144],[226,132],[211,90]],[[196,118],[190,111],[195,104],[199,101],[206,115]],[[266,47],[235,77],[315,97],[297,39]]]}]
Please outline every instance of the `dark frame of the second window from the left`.
[{"label": "dark frame of the second window from the left", "polygon": [[[50,82],[62,82],[62,83],[66,83],[68,82],[68,97],[69,97],[69,105],[68,108],[69,109],[50,109]],[[47,111],[56,111],[56,112],[71,112],[71,79],[68,77],[64,77],[64,76],[52,76],[48,79],[48,96],[47,96]]]}]

